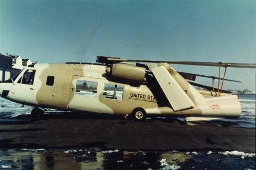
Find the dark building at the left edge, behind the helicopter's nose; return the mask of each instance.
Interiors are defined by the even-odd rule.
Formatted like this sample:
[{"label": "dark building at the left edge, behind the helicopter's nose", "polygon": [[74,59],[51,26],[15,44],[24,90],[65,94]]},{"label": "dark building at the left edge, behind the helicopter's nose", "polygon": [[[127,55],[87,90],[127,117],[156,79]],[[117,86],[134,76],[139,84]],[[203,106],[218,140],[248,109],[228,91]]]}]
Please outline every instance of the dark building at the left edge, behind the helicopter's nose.
[{"label": "dark building at the left edge, behind the helicopter's nose", "polygon": [[0,82],[12,76],[12,57],[0,54]]}]

